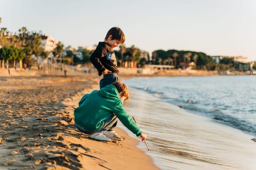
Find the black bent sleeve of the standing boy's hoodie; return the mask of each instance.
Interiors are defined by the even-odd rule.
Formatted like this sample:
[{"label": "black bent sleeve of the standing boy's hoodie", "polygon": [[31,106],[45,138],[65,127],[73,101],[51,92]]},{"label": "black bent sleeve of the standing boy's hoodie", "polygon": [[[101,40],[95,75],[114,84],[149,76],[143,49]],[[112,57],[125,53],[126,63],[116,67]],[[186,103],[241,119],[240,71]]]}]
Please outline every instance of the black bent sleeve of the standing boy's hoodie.
[{"label": "black bent sleeve of the standing boy's hoodie", "polygon": [[100,58],[105,56],[106,51],[103,47],[98,46],[95,51],[90,56],[90,61],[94,65],[94,67],[98,70],[99,73],[104,71],[106,68],[101,64]]}]

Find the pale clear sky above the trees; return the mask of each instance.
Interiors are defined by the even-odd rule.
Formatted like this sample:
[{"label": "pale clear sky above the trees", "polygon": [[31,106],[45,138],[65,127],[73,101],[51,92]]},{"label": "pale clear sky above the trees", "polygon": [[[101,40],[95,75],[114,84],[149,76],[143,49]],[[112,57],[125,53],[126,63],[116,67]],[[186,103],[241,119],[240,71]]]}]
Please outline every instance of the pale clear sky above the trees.
[{"label": "pale clear sky above the trees", "polygon": [[[0,0],[0,28],[92,48],[119,27],[124,45],[256,61],[256,0]],[[115,49],[115,50],[118,50]]]}]

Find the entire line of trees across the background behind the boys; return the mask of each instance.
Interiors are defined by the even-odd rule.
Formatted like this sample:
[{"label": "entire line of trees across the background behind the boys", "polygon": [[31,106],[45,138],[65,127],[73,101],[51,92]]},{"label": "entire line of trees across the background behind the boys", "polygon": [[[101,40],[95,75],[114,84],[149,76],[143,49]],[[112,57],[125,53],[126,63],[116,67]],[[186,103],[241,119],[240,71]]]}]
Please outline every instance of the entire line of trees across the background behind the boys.
[{"label": "entire line of trees across the background behind the boys", "polygon": [[[0,18],[1,22],[1,18]],[[19,29],[17,34],[10,35],[7,28],[0,29],[0,67],[6,67],[9,62],[12,67],[16,67],[17,61],[22,62],[28,67],[32,65],[32,55],[36,56],[37,64],[39,64],[39,56],[45,59],[49,56],[48,51],[41,48],[41,35],[37,32],[29,32],[26,27]],[[76,51],[71,46],[68,50],[64,50],[64,45],[58,42],[54,51],[56,62],[65,62],[66,64],[86,64],[90,63],[89,57],[93,50],[83,49]],[[177,50],[156,50],[152,52],[152,57],[147,51],[142,51],[136,46],[126,48],[125,45],[120,45],[119,50],[115,51],[118,59],[119,67],[124,67],[125,62],[138,63],[138,67],[143,67],[146,64],[156,65],[171,65],[175,68],[192,67],[194,69],[207,70],[245,70],[245,66],[241,66],[234,58],[222,58],[219,63],[216,63],[209,55],[203,52],[196,51],[177,51]],[[21,62],[22,61],[22,62]],[[68,61],[68,62],[67,62]],[[246,65],[248,66],[248,65]],[[254,68],[256,63],[254,63]]]}]

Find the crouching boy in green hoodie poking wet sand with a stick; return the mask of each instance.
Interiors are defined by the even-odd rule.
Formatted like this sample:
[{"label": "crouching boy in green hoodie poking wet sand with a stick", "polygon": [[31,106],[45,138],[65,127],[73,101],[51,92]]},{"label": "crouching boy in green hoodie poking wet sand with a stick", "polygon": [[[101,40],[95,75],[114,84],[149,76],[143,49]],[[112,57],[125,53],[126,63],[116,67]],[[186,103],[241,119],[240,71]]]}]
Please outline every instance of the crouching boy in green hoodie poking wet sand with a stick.
[{"label": "crouching boy in green hoodie poking wet sand with a stick", "polygon": [[122,140],[113,130],[119,119],[136,136],[144,141],[147,137],[136,122],[127,115],[123,101],[129,98],[128,87],[121,82],[114,82],[100,90],[85,94],[75,109],[75,126],[90,138],[101,141]]}]

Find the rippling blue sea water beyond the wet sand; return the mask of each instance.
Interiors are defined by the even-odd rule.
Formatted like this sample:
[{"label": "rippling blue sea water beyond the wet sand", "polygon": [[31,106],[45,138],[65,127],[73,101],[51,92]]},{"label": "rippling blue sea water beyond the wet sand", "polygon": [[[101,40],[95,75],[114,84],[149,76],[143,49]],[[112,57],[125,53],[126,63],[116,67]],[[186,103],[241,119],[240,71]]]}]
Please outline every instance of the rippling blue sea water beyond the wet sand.
[{"label": "rippling blue sea water beyond the wet sand", "polygon": [[246,76],[175,77],[136,79],[128,85],[150,93],[156,100],[256,135],[256,92],[247,88],[248,81],[253,80]]}]

